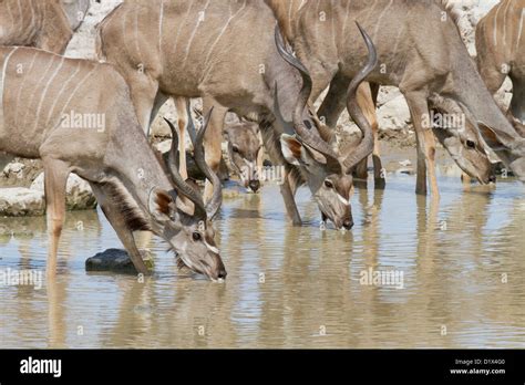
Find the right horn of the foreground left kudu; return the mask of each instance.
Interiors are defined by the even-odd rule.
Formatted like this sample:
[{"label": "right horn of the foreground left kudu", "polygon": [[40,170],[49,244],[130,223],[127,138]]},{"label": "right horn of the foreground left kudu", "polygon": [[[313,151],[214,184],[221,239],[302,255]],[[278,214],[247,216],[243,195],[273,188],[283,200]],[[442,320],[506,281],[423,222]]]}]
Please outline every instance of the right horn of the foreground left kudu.
[{"label": "right horn of the foreground left kudu", "polygon": [[[189,107],[188,107],[189,110]],[[208,164],[205,160],[205,154],[204,154],[204,135],[206,134],[206,129],[208,128],[208,123],[209,118],[212,116],[214,108],[212,107],[209,112],[207,113],[203,127],[198,131],[197,137],[195,139],[195,143],[193,144],[194,146],[194,155],[195,155],[195,163],[197,164],[198,168],[203,171],[203,174],[206,176],[206,178],[212,183],[214,186],[214,192],[212,195],[212,200],[206,205],[206,214],[209,219],[214,219],[214,217],[217,215],[218,209],[220,208],[220,205],[223,204],[223,186],[220,184],[220,179],[215,174],[212,168],[208,166]],[[188,132],[189,131],[196,131],[195,125],[193,122],[192,114],[189,114],[188,111]]]}]

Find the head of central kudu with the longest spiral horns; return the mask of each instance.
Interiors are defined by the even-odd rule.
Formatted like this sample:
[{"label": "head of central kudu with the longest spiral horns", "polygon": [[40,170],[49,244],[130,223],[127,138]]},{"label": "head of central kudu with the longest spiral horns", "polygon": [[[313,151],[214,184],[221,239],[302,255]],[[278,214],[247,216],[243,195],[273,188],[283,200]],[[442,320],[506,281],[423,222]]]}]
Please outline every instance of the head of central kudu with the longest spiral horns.
[{"label": "head of central kudu with the longest spiral horns", "polygon": [[[369,60],[352,80],[347,96],[352,116],[358,117],[358,126],[363,132],[363,138],[368,141],[371,138],[372,131],[362,111],[357,106],[356,93],[359,84],[377,65],[378,59],[371,39],[360,27],[359,29],[369,50]],[[281,135],[282,155],[289,164],[299,167],[319,206],[323,221],[329,219],[337,229],[351,229],[353,218],[350,198],[353,192],[353,180],[350,173],[361,159],[369,155],[371,148],[361,145],[361,143],[348,156],[333,149],[330,145],[333,136],[332,131],[323,125],[309,107],[308,102],[312,89],[311,76],[303,64],[288,51],[278,28],[276,28],[276,44],[279,54],[296,67],[302,77],[302,89],[292,114],[296,134]],[[277,95],[275,100],[278,100]],[[371,144],[373,145],[373,142]]]}]

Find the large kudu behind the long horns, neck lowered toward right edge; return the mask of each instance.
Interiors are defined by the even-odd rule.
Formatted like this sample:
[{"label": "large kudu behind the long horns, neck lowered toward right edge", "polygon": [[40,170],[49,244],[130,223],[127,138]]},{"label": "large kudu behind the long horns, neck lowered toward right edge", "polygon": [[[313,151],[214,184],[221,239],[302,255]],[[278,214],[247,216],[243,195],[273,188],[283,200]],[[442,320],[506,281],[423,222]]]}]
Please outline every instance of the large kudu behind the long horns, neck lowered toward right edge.
[{"label": "large kudu behind the long horns, neck lowered toward right edge", "polygon": [[[481,131],[484,142],[525,179],[525,141],[512,128],[483,84],[454,15],[443,1],[266,1],[312,74],[312,98],[330,85],[318,112],[329,124],[337,122],[343,107],[342,101],[338,101],[341,90],[366,60],[366,51],[356,44],[358,30],[351,21],[357,20],[371,31],[380,65],[369,81],[399,86],[406,98],[418,138],[419,194],[426,194],[428,170],[432,194],[439,196],[435,141],[426,122],[429,98],[434,94],[457,104],[466,119]],[[425,33],[421,33],[423,30]],[[367,141],[372,141],[372,133],[367,134],[362,145]]]}]

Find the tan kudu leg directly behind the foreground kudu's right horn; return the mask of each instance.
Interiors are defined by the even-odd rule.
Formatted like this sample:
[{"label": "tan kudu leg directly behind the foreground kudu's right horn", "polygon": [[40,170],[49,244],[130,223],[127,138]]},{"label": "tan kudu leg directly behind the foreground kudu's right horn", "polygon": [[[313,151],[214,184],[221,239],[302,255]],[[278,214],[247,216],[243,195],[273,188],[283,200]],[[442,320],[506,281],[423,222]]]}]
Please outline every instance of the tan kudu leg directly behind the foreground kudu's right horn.
[{"label": "tan kudu leg directly behind the foreground kudu's right horn", "polygon": [[[208,129],[204,136],[204,148],[206,163],[215,174],[218,174],[220,167],[220,159],[223,157],[222,142],[223,142],[223,126],[224,118],[228,108],[225,108],[209,98],[203,98],[203,116],[207,116],[210,108],[214,108],[209,117]],[[206,179],[204,187],[204,201],[212,199],[214,192],[213,185]]]}]

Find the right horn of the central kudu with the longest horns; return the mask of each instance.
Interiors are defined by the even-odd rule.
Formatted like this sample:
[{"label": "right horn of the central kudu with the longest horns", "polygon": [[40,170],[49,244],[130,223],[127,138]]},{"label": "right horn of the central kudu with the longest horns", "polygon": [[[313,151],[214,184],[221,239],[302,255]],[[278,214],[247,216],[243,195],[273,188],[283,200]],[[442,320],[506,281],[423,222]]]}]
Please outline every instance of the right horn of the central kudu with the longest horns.
[{"label": "right horn of the central kudu with the longest horns", "polygon": [[363,134],[363,138],[359,146],[356,148],[354,152],[350,153],[350,155],[342,160],[343,169],[348,173],[356,165],[358,165],[362,159],[369,156],[373,150],[373,134],[372,127],[370,127],[370,123],[366,118],[361,107],[358,105],[357,102],[357,91],[359,85],[362,81],[373,71],[375,65],[378,65],[378,53],[375,52],[375,46],[373,45],[372,40],[370,37],[364,32],[364,30],[359,25],[356,21],[361,35],[364,39],[368,49],[368,62],[364,67],[352,79],[350,86],[348,87],[347,93],[347,107],[350,116],[352,117],[353,122],[358,125],[359,129]]}]

